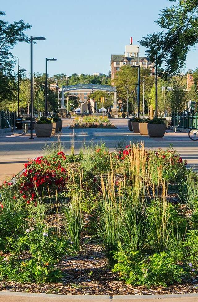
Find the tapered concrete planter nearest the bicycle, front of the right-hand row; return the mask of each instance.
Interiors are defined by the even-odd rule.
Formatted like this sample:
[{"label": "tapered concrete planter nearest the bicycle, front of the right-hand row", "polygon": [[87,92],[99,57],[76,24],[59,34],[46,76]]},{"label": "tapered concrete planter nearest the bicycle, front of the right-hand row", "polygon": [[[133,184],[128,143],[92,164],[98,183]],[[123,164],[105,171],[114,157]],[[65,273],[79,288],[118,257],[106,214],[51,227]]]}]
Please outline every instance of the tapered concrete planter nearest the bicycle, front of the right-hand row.
[{"label": "tapered concrete planter nearest the bicycle, front of the right-hand row", "polygon": [[163,137],[166,130],[166,124],[164,123],[164,120],[154,118],[153,120],[149,120],[147,128],[150,137]]}]

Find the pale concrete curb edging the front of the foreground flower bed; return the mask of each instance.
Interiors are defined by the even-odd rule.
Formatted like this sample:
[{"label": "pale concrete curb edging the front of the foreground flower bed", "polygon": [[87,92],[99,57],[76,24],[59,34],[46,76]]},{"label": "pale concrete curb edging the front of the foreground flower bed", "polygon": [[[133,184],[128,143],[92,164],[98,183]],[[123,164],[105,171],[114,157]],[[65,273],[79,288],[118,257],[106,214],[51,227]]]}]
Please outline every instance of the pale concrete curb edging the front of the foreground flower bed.
[{"label": "pale concrete curb edging the front of the foreground flower bed", "polygon": [[50,295],[0,291],[0,302],[197,302],[198,294],[176,295]]}]

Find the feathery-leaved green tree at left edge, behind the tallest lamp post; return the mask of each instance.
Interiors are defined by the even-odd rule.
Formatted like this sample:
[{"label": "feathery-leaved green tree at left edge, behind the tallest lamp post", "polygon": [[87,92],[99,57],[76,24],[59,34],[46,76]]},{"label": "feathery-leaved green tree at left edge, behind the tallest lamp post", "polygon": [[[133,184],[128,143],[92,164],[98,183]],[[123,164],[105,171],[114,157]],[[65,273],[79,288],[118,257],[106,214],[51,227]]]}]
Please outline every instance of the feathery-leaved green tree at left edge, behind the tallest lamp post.
[{"label": "feathery-leaved green tree at left edge, behind the tallest lamp post", "polygon": [[[0,11],[0,16],[5,12]],[[31,28],[30,24],[25,24],[23,20],[15,21],[13,24],[5,20],[0,20],[0,102],[6,98],[15,97],[16,81],[12,72],[15,64],[11,49],[18,42],[29,42],[24,31]]]}]

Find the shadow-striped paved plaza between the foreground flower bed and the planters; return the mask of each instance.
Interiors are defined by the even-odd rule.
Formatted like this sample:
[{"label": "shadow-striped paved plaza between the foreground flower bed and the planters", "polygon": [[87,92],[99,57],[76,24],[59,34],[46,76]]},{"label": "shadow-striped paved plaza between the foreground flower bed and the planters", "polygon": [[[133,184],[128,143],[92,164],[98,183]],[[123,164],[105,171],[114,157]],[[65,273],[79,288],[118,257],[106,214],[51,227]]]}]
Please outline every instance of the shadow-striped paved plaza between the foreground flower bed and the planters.
[{"label": "shadow-striped paved plaza between the foreground flower bed and the planters", "polygon": [[[140,135],[129,131],[127,119],[112,119],[111,122],[116,129],[70,129],[73,118],[63,119],[63,128],[61,142],[64,144],[65,152],[70,153],[71,139],[75,138],[75,152],[78,153],[84,143],[93,142],[95,144],[103,141],[110,151],[114,151],[119,141],[131,142],[144,141],[147,148],[161,147],[166,149],[173,145],[179,151],[183,159],[186,159],[189,166],[198,169],[198,141],[191,141],[187,133],[173,133],[168,131],[163,138],[149,138],[147,135]],[[21,134],[21,131],[15,131],[15,134],[0,134],[0,184],[4,180],[9,180],[12,175],[19,173],[24,163],[30,159],[44,154],[42,147],[57,141],[57,135],[50,138],[37,138],[34,134],[34,140],[30,140],[30,134]]]}]

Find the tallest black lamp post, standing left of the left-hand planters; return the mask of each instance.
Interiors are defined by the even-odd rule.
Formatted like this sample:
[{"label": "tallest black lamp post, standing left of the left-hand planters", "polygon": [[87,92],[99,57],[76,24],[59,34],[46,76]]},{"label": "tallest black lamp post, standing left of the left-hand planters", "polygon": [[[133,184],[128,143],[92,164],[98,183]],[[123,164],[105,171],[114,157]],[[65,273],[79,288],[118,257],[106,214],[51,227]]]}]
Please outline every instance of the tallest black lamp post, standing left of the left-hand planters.
[{"label": "tallest black lamp post, standing left of the left-hand planters", "polygon": [[44,37],[30,37],[30,138],[33,138],[33,41],[45,40]]}]

